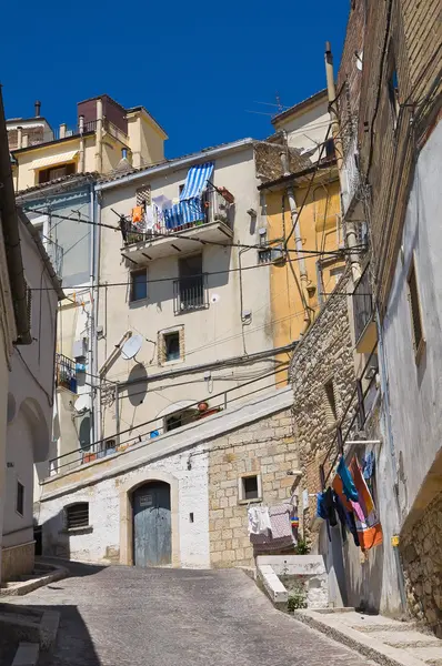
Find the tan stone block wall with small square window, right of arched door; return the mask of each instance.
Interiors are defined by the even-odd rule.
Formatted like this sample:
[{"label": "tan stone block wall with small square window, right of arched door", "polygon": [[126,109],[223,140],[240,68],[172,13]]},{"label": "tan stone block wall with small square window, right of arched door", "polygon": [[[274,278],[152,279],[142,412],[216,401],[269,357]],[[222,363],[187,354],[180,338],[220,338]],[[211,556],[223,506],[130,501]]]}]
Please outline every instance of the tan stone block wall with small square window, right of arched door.
[{"label": "tan stone block wall with small square window, right of arched door", "polygon": [[239,480],[261,476],[262,501],[280,504],[292,496],[298,451],[290,410],[232,431],[209,452],[209,537],[213,567],[253,566],[248,534],[248,505],[239,497]]}]

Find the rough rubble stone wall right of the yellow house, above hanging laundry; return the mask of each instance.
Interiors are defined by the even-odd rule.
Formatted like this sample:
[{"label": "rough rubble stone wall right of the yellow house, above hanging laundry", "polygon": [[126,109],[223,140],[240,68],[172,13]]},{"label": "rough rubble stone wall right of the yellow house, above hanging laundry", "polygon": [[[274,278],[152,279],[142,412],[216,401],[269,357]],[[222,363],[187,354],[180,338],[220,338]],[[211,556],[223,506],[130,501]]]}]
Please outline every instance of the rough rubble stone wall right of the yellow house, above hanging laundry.
[{"label": "rough rubble stone wall right of the yellow house, above hanging laundry", "polygon": [[[331,445],[339,418],[354,391],[353,347],[348,316],[348,273],[317,321],[297,347],[290,369],[293,386],[293,415],[297,424],[300,468],[303,490],[309,494],[320,488],[319,466]],[[325,385],[332,387],[334,411]],[[333,450],[332,457],[336,450]],[[328,467],[325,466],[325,472]],[[311,533],[315,502],[300,507],[300,526],[304,536]]]}]

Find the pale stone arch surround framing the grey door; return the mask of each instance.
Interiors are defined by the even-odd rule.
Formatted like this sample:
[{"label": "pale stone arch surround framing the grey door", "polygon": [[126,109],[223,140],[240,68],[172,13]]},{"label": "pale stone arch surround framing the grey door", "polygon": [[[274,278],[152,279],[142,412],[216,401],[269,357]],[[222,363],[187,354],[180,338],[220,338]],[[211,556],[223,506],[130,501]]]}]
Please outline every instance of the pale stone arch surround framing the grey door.
[{"label": "pale stone arch surround framing the grey door", "polygon": [[180,566],[179,482],[172,474],[155,470],[142,470],[130,476],[120,487],[120,564],[133,566],[132,494],[138,487],[155,481],[164,482],[170,486],[172,566]]}]

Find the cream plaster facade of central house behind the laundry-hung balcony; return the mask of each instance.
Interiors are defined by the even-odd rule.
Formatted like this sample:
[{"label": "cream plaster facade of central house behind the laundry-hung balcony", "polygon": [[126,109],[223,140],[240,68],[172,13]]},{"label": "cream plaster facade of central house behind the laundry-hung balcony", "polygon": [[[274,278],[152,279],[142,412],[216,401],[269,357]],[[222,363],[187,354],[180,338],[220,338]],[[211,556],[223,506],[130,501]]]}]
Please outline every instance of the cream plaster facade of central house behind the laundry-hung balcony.
[{"label": "cream plaster facade of central house behind the laundry-hung balcony", "polygon": [[[208,160],[210,155],[208,157]],[[164,194],[169,199],[178,198],[179,185],[184,182],[188,168],[168,171],[149,180],[132,181],[130,185],[119,185],[118,181],[111,190],[102,192],[101,222],[115,225],[118,213],[128,215],[135,204],[135,191],[143,184],[150,183],[152,196]],[[253,150],[247,147],[241,152],[231,153],[215,160],[213,182],[215,185],[227,186],[235,198],[234,213],[234,239],[233,242],[257,244],[258,229],[263,223],[258,218],[257,223],[251,223],[247,213],[250,208],[260,211],[257,180],[254,172]],[[129,303],[130,270],[121,258],[122,239],[119,233],[101,228],[101,262],[100,283],[122,283],[122,286],[109,286],[100,290],[99,321],[103,326],[104,337],[99,341],[99,366],[114,350],[127,331],[141,334],[144,337],[137,360],[124,361],[121,356],[115,361],[108,372],[107,379],[113,382],[123,382],[130,379],[137,362],[144,365],[148,376],[162,373],[172,369],[187,369],[193,365],[209,363],[230,356],[243,356],[244,345],[242,329],[244,330],[245,351],[248,354],[272,347],[272,330],[269,295],[269,268],[245,270],[242,273],[243,294],[245,310],[252,312],[252,321],[248,326],[241,324],[240,307],[240,276],[239,272],[209,275],[208,289],[210,305],[207,310],[174,315],[173,312],[173,285],[172,282],[151,282],[148,284],[148,299],[145,301]],[[201,246],[192,248],[190,253],[201,251]],[[172,250],[171,252],[175,252]],[[205,245],[203,253],[203,271],[213,273],[217,271],[238,269],[238,250],[232,248],[220,248]],[[149,252],[148,252],[149,254]],[[181,254],[180,254],[181,256]],[[242,254],[242,266],[255,265],[258,255],[255,250]],[[135,269],[135,266],[131,266]],[[178,254],[157,259],[148,263],[148,280],[178,278]],[[212,302],[212,296],[218,296]],[[161,366],[158,363],[158,349],[155,346],[159,331],[173,326],[184,326],[184,361]],[[148,340],[147,340],[148,339]],[[148,386],[148,395],[128,396],[123,391],[120,400],[120,430],[132,427],[131,435],[137,431],[135,426],[148,420],[157,417],[164,408],[170,407],[179,401],[199,401],[217,394],[221,391],[232,389],[248,379],[254,379],[259,374],[272,372],[273,364],[270,361],[241,367],[221,369],[212,371],[212,380],[208,384],[203,379],[203,371],[191,376],[161,382],[151,382]],[[140,369],[138,369],[140,370]],[[137,370],[133,370],[137,372]],[[185,385],[179,385],[181,382]],[[262,385],[269,385],[274,380],[262,381]],[[255,390],[258,384],[249,386],[235,396],[247,395]],[[115,432],[115,404],[110,396],[103,406],[106,435]],[[148,430],[154,430],[150,426]]]}]

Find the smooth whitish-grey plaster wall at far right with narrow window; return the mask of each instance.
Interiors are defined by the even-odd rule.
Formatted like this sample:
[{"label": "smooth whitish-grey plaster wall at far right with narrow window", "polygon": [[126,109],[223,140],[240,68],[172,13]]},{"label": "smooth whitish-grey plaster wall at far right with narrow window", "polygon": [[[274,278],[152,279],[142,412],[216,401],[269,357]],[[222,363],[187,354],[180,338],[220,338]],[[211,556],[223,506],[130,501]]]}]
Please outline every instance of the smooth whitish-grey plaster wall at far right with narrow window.
[{"label": "smooth whitish-grey plaster wall at far right with narrow window", "polygon": [[[402,521],[442,443],[442,123],[422,149],[410,192],[402,250],[383,322],[395,474]],[[406,278],[414,252],[426,341],[414,361]]]}]

